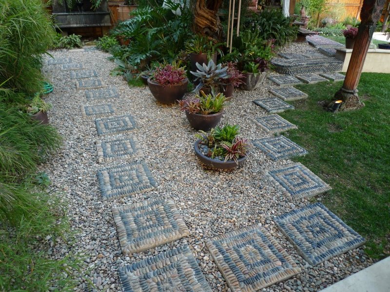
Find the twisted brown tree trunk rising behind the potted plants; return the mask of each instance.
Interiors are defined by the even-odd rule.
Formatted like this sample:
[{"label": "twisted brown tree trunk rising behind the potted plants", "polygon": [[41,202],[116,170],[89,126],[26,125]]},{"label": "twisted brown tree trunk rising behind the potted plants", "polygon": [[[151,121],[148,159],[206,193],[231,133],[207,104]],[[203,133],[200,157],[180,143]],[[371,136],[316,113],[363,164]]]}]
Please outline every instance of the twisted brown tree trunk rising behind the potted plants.
[{"label": "twisted brown tree trunk rising behind the potted plants", "polygon": [[218,8],[222,0],[196,0],[194,10],[194,32],[213,37],[221,41],[224,37],[222,24],[218,17]]}]

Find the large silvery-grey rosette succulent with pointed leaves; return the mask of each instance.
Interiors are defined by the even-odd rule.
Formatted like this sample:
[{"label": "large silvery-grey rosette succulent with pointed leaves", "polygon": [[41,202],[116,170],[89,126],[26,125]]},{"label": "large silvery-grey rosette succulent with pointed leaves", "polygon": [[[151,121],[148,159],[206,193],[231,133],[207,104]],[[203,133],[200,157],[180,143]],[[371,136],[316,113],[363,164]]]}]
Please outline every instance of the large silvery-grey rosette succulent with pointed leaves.
[{"label": "large silvery-grey rosette succulent with pointed leaves", "polygon": [[227,70],[228,67],[223,67],[222,64],[215,65],[213,60],[210,60],[206,65],[200,65],[196,63],[196,72],[191,71],[198,82],[198,85],[195,87],[194,91],[202,90],[206,94],[210,94],[212,90],[216,90],[223,82],[224,79],[228,77]]}]

